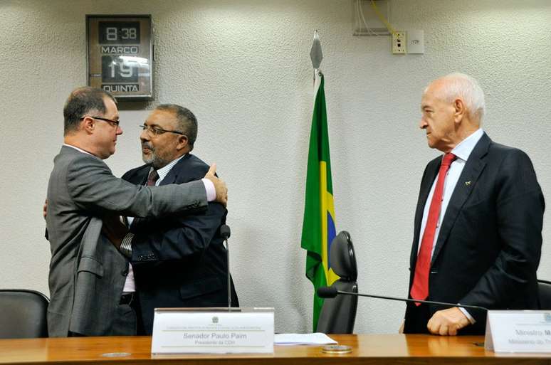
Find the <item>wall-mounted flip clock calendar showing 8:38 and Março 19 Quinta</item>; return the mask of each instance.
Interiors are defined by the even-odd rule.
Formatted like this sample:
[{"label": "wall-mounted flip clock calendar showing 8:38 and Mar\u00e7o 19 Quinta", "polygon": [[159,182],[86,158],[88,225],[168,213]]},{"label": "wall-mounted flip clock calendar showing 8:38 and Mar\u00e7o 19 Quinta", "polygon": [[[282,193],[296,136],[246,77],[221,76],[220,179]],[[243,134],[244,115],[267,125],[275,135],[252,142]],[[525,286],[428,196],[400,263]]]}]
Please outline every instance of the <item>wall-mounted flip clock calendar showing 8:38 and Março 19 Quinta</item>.
[{"label": "wall-mounted flip clock calendar showing 8:38 and Mar\u00e7o 19 Quinta", "polygon": [[151,99],[150,15],[87,15],[88,85],[118,98]]}]

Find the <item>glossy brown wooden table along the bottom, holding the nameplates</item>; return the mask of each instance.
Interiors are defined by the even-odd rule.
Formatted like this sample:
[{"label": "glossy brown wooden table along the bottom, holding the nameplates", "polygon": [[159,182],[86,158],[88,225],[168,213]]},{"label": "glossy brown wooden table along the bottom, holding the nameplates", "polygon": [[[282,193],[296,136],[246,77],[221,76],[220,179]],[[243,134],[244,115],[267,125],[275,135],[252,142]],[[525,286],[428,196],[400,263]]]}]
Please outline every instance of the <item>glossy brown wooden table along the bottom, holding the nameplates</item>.
[{"label": "glossy brown wooden table along the bottom, holding the nameplates", "polygon": [[[439,337],[425,334],[336,334],[350,354],[323,354],[319,346],[275,346],[273,354],[152,356],[151,337],[72,337],[0,340],[0,364],[545,364],[551,354],[495,354],[484,337]],[[103,354],[128,353],[121,357]]]}]

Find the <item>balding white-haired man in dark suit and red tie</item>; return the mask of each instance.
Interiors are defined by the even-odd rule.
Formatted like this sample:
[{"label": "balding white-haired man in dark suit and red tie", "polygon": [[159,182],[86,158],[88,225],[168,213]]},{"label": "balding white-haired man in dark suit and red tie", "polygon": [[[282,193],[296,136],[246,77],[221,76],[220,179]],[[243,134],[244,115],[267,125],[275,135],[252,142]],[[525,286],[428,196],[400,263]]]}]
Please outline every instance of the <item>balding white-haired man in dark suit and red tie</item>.
[{"label": "balding white-haired man in dark suit and red tie", "polygon": [[[427,164],[415,213],[409,297],[490,310],[537,309],[545,202],[532,162],[481,129],[484,93],[453,73],[421,100],[419,127],[444,152]],[[409,303],[405,333],[483,334],[486,311]]]}]

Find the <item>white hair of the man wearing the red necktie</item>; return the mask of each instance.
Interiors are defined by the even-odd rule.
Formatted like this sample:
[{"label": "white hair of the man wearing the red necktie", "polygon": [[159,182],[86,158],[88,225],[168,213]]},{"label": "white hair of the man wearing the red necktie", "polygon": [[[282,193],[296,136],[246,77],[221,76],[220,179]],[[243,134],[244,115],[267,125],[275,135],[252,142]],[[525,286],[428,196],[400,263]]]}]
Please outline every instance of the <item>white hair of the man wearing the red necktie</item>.
[{"label": "white hair of the man wearing the red necktie", "polygon": [[482,122],[486,102],[481,85],[475,78],[464,73],[450,73],[438,80],[446,81],[437,93],[439,99],[453,102],[454,98],[461,97],[471,116],[476,117],[478,122]]}]

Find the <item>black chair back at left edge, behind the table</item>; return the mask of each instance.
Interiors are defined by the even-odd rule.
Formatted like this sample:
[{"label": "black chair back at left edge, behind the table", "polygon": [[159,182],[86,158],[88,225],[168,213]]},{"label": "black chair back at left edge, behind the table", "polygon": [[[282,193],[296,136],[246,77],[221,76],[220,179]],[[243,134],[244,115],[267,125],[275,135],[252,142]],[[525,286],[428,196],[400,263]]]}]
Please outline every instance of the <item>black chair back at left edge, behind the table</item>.
[{"label": "black chair back at left edge, behind the table", "polygon": [[48,337],[48,297],[24,289],[0,289],[0,339]]}]

